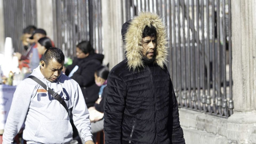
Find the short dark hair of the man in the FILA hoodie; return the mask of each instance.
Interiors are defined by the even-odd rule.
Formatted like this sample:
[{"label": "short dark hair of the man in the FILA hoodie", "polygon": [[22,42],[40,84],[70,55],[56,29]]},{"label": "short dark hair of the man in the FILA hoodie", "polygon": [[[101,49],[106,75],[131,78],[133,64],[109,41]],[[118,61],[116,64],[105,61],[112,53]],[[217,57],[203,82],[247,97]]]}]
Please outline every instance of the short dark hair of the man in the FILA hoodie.
[{"label": "short dark hair of the man in the FILA hoodie", "polygon": [[57,47],[50,47],[43,54],[42,61],[44,61],[45,65],[47,66],[51,59],[55,59],[58,63],[62,63],[65,60],[65,56],[61,49]]}]

